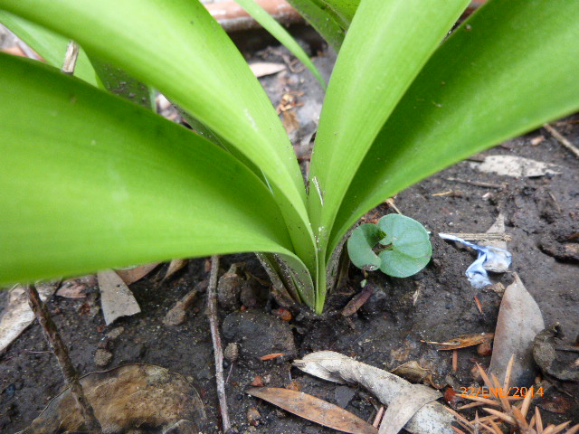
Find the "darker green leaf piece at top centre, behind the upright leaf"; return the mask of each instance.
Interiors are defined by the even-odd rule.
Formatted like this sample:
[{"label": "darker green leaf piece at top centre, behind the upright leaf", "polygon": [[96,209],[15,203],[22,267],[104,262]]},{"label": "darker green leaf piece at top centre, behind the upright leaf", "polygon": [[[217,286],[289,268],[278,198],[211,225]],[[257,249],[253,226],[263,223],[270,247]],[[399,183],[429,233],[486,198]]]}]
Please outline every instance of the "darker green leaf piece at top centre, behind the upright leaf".
[{"label": "darker green leaf piece at top centre, behind the upright leaf", "polygon": [[316,0],[288,0],[289,5],[295,7],[311,26],[318,31],[331,47],[340,51],[346,36],[346,27],[340,23],[339,17],[319,5]]}]

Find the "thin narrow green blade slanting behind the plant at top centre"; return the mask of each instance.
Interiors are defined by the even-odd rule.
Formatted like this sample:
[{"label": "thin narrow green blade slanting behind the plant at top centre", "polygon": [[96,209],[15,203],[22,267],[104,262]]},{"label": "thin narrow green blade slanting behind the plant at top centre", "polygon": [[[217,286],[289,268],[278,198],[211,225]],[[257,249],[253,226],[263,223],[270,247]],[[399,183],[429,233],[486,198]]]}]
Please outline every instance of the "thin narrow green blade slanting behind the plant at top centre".
[{"label": "thin narrow green blade slanting behind the plant at top centre", "polygon": [[314,74],[314,77],[319,81],[322,88],[326,89],[326,81],[322,78],[318,68],[314,62],[309,59],[308,54],[303,51],[299,43],[284,29],[280,23],[268,14],[261,5],[257,4],[255,0],[235,0],[236,3],[242,6],[248,14],[252,15],[253,19],[261,24],[265,30],[271,33],[275,39],[280,41],[285,47],[292,52],[301,61],[308,70]]}]

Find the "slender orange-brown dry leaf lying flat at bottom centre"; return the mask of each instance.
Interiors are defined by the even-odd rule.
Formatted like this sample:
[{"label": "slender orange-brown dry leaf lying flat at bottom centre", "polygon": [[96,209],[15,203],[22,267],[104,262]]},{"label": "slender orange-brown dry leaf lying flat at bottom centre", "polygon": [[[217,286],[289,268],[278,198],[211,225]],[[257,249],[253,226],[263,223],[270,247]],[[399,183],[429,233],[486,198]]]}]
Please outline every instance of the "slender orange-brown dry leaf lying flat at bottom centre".
[{"label": "slender orange-brown dry leaf lying flat at bottom centre", "polygon": [[271,402],[273,405],[311,420],[325,427],[352,434],[376,434],[372,425],[337,405],[320,400],[304,392],[290,391],[278,387],[260,387],[250,389],[251,396]]}]

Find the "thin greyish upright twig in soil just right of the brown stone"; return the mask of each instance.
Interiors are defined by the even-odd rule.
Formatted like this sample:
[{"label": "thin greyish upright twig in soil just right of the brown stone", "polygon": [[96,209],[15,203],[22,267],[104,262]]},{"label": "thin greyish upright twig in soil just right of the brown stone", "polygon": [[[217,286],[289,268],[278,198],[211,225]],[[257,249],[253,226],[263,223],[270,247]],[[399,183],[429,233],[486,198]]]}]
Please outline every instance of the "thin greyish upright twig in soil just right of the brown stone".
[{"label": "thin greyish upright twig in soil just right of the brown stone", "polygon": [[223,432],[231,428],[229,421],[229,412],[227,411],[227,398],[225,396],[225,382],[223,381],[223,345],[219,335],[219,325],[217,320],[217,274],[219,272],[219,256],[211,257],[211,275],[209,277],[209,286],[207,287],[207,317],[209,318],[209,327],[211,329],[211,338],[214,342],[215,355],[215,382],[217,383],[217,398],[221,408],[221,419],[223,423]]}]

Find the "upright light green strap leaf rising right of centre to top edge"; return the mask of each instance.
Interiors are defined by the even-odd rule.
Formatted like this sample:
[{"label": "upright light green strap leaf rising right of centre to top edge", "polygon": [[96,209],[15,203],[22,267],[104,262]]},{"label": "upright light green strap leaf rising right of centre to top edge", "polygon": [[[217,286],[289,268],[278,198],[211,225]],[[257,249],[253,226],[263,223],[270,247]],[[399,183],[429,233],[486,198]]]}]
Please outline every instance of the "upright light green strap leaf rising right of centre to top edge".
[{"label": "upright light green strap leaf rising right of centre to top edge", "polygon": [[365,0],[358,7],[332,72],[312,156],[310,178],[319,188],[312,194],[310,187],[309,210],[313,227],[323,230],[322,249],[366,152],[468,3]]}]

